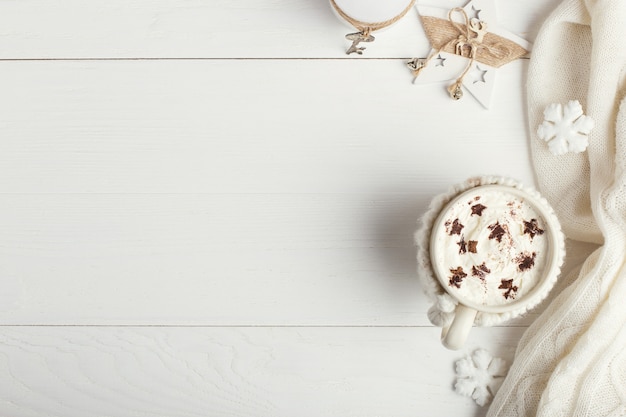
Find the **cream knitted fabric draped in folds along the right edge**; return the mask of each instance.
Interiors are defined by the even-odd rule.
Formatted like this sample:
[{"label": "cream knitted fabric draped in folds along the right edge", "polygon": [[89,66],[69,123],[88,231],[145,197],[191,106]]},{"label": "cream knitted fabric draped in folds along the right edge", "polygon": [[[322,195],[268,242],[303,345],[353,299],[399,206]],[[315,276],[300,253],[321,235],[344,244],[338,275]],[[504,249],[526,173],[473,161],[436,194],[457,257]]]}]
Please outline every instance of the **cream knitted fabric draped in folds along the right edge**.
[{"label": "cream knitted fabric draped in folds along the right edge", "polygon": [[[528,73],[539,190],[571,239],[601,243],[524,334],[488,416],[626,415],[626,0],[565,0],[544,22]],[[589,147],[554,156],[543,110],[579,100]]]}]

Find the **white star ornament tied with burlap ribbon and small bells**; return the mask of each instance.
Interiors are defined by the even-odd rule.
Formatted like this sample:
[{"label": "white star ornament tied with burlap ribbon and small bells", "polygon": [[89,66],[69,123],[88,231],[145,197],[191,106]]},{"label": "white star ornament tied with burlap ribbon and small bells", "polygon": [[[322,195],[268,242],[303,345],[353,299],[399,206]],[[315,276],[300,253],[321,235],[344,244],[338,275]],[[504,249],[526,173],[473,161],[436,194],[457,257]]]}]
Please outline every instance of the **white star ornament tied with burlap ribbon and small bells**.
[{"label": "white star ornament tied with burlap ribbon and small bells", "polygon": [[[449,9],[440,7],[416,8],[432,46],[430,55],[438,60],[411,61],[413,83],[447,84],[454,99],[460,99],[466,89],[489,108],[496,69],[526,55],[531,44],[498,26],[494,0],[471,0],[461,13],[449,14]],[[458,85],[454,85],[455,80],[460,80]]]}]

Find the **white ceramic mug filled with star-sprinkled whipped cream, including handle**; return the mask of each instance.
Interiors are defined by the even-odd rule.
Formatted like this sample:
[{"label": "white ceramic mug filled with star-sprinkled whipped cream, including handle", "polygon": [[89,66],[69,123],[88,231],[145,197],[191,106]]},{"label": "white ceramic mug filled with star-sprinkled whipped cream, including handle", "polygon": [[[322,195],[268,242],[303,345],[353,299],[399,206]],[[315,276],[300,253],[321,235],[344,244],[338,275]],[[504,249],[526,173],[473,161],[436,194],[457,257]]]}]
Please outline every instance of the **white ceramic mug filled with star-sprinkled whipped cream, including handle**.
[{"label": "white ceramic mug filled with star-sprinkled whipped cream, including handle", "polygon": [[434,274],[458,302],[444,346],[461,348],[479,312],[512,318],[543,300],[560,272],[563,239],[538,194],[489,184],[449,201],[430,236]]}]

